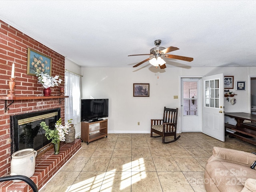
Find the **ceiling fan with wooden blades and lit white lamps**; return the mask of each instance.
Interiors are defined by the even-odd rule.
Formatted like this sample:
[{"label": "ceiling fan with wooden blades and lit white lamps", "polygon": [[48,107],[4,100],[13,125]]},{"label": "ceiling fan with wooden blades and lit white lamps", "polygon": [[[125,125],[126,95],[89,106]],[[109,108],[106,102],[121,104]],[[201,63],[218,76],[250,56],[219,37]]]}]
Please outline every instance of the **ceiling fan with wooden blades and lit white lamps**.
[{"label": "ceiling fan with wooden blades and lit white lamps", "polygon": [[150,57],[145,59],[144,61],[134,65],[133,67],[138,67],[139,65],[141,65],[142,63],[146,62],[149,60],[150,64],[152,64],[153,66],[156,67],[160,67],[161,69],[166,68],[165,65],[165,61],[162,59],[162,57],[166,57],[166,58],[171,58],[171,59],[178,59],[178,60],[183,60],[183,61],[192,61],[193,58],[191,57],[184,57],[184,56],[178,56],[178,55],[170,55],[170,54],[166,54],[168,52],[171,51],[176,51],[179,50],[179,48],[177,47],[168,47],[168,48],[164,48],[164,47],[159,47],[159,45],[161,44],[161,40],[155,40],[155,46],[154,48],[150,49],[150,54],[136,54],[136,55],[128,55],[128,56],[139,56],[139,55],[149,55]]}]

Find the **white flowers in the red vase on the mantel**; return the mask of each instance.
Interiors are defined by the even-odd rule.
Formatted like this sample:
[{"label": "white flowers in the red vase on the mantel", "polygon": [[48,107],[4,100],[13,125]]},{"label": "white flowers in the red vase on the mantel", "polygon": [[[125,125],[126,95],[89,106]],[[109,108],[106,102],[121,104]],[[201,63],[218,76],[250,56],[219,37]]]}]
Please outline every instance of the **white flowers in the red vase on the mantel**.
[{"label": "white flowers in the red vase on the mantel", "polygon": [[62,79],[60,79],[58,75],[51,77],[49,74],[43,72],[36,72],[35,74],[38,77],[38,83],[42,84],[46,89],[49,87],[58,86],[62,82]]}]

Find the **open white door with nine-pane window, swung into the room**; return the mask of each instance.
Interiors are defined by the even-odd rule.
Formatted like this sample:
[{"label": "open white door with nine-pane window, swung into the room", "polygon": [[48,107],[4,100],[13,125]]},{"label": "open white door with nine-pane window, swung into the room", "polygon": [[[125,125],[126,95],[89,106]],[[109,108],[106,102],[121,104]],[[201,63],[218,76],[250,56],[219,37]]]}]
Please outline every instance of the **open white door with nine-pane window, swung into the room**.
[{"label": "open white door with nine-pane window, swung into the room", "polygon": [[207,76],[202,80],[202,132],[224,142],[224,75]]}]

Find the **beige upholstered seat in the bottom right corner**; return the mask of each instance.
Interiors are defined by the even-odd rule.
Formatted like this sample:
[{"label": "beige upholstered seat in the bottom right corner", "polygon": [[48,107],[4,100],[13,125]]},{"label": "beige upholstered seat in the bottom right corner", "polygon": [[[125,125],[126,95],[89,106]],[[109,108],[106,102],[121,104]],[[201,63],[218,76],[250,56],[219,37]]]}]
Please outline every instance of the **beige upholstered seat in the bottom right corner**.
[{"label": "beige upholstered seat in the bottom right corner", "polygon": [[207,192],[256,192],[256,154],[214,147],[204,173]]}]

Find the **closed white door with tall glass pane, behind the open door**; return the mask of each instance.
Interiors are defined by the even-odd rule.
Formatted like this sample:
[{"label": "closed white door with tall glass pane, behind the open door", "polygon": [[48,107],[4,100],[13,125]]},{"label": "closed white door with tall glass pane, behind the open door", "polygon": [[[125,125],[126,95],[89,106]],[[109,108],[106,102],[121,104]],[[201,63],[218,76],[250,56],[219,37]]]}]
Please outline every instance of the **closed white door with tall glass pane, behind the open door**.
[{"label": "closed white door with tall glass pane, behind the open door", "polygon": [[202,132],[201,78],[181,78],[181,132]]}]

